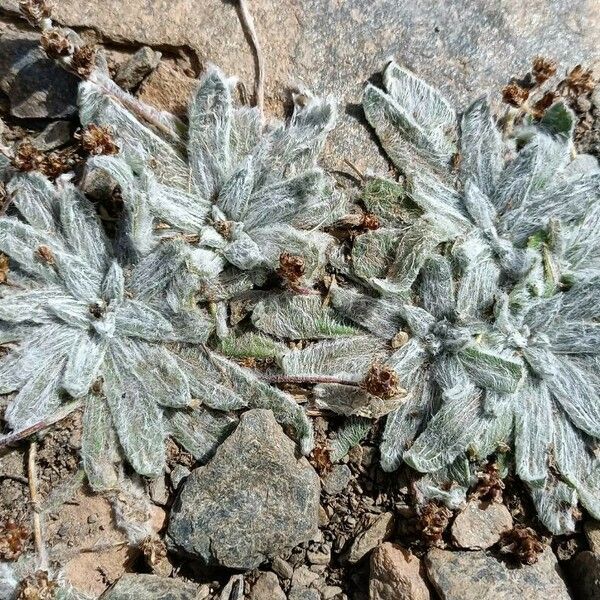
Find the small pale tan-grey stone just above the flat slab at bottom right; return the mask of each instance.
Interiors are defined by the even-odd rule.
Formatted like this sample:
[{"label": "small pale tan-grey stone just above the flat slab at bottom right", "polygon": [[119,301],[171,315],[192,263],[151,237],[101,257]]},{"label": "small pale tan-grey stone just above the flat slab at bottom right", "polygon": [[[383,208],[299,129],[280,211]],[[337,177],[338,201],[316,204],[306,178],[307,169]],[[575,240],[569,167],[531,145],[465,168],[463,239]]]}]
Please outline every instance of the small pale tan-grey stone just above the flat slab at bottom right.
[{"label": "small pale tan-grey stone just above the flat slab at bottom right", "polygon": [[481,504],[471,500],[452,524],[452,537],[457,546],[469,550],[485,550],[500,540],[502,532],[512,527],[512,516],[504,504]]}]

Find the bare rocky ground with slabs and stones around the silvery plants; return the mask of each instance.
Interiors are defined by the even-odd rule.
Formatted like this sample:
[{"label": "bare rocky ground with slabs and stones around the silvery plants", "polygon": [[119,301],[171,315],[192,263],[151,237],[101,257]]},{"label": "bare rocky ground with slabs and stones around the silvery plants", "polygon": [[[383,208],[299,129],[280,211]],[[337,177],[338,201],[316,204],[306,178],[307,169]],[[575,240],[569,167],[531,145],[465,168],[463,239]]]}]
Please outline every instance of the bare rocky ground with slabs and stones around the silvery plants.
[{"label": "bare rocky ground with slabs and stones around the silvery plants", "polygon": [[[44,152],[68,148],[76,81],[45,58],[16,4],[0,0],[4,136],[31,139]],[[256,0],[252,8],[268,68],[267,110],[284,115],[294,88],[340,98],[325,163],[341,180],[352,175],[346,161],[389,169],[359,100],[391,55],[458,106],[482,93],[500,104],[502,86],[535,55],[563,70],[600,67],[594,0]],[[230,3],[62,0],[56,17],[102,45],[116,81],[158,107],[184,114],[209,61],[251,89],[252,55]],[[598,155],[600,96],[582,102],[580,148]],[[308,460],[260,410],[242,415],[204,466],[173,444],[164,478],[141,484],[145,503],[141,488],[109,499],[88,493],[79,417],[63,421],[37,450],[51,560],[105,600],[600,598],[600,524],[583,516],[577,533],[551,538],[518,483],[500,484],[492,467],[466,507],[430,505],[417,514],[411,475],[378,467],[376,430],[331,464],[319,449],[339,423],[324,415],[314,425],[319,444]],[[3,558],[33,548],[26,460],[27,444],[0,456]],[[144,513],[143,535],[120,522],[132,510]]]}]

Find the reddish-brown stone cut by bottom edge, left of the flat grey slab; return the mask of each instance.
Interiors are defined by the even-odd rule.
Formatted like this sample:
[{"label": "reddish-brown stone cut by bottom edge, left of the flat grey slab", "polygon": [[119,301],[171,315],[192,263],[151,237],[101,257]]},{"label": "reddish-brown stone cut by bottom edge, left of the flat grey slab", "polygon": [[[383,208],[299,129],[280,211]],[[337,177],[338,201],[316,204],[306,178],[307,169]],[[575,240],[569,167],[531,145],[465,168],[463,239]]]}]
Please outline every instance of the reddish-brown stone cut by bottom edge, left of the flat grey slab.
[{"label": "reddish-brown stone cut by bottom edge, left of the flat grey slab", "polygon": [[429,600],[421,561],[406,548],[385,542],[371,554],[369,600]]}]

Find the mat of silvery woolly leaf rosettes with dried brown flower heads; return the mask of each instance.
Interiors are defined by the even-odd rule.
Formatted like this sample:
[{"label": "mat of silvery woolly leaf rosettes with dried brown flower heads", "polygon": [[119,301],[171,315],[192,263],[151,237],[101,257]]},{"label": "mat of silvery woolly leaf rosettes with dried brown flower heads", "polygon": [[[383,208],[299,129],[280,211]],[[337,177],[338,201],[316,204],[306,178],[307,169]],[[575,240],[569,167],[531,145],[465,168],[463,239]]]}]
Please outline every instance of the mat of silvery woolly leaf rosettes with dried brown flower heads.
[{"label": "mat of silvery woolly leaf rosettes with dried brown flower heads", "polygon": [[[52,183],[27,148],[2,165],[11,429],[82,405],[83,465],[106,490],[124,461],[159,475],[167,436],[206,460],[247,407],[272,409],[309,453],[305,411],[272,383],[311,383],[318,408],[349,417],[333,460],[387,415],[382,465],[425,474],[433,537],[490,455],[551,531],[573,529],[578,502],[600,518],[600,168],[575,157],[562,101],[504,134],[485,99],[459,116],[390,63],[363,106],[404,180],[368,177],[356,210],[317,165],[329,99],[298,95],[289,122],[265,123],[211,67],[184,123],[33,8],[49,55],[84,79],[90,157],[77,185]],[[532,87],[553,70],[536,61]],[[521,108],[528,95],[505,90]],[[108,236],[90,198],[115,196]]]}]

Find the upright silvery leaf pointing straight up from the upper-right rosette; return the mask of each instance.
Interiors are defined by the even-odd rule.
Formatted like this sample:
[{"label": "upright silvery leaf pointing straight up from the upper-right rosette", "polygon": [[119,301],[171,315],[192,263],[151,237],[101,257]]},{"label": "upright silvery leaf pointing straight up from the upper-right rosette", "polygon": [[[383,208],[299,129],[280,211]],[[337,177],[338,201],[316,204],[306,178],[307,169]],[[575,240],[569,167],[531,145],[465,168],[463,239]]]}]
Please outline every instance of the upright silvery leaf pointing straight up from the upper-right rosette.
[{"label": "upright silvery leaf pointing straight up from the upper-right rosette", "polygon": [[463,113],[460,136],[460,171],[464,181],[472,181],[491,196],[502,171],[504,144],[490,113],[486,98],[475,101]]}]

